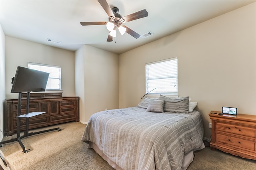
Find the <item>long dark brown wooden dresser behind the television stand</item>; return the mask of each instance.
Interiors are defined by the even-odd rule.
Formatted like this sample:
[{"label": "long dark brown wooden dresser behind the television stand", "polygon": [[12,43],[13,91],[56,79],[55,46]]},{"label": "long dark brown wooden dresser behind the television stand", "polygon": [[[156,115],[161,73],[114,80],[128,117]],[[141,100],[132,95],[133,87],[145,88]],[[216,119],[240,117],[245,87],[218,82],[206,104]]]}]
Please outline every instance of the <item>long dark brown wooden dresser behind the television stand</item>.
[{"label": "long dark brown wooden dresser behind the television stand", "polygon": [[[22,93],[21,115],[26,114],[26,96]],[[62,93],[30,93],[29,112],[45,112],[29,119],[29,129],[58,123],[79,121],[79,97],[62,97]],[[17,131],[18,99],[6,99],[4,131],[7,136]],[[21,119],[25,130],[26,119]]]}]

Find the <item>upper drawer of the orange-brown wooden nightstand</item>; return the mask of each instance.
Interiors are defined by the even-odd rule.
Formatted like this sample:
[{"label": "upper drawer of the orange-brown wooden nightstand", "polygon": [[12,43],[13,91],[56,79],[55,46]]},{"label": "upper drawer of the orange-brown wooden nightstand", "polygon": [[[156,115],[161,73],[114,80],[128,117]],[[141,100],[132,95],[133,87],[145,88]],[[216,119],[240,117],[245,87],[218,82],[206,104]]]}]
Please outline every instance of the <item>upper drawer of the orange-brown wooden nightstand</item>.
[{"label": "upper drawer of the orange-brown wooden nightstand", "polygon": [[224,123],[216,123],[216,130],[220,130],[223,132],[229,132],[233,134],[240,134],[243,136],[255,137],[255,129],[249,127],[242,127]]}]

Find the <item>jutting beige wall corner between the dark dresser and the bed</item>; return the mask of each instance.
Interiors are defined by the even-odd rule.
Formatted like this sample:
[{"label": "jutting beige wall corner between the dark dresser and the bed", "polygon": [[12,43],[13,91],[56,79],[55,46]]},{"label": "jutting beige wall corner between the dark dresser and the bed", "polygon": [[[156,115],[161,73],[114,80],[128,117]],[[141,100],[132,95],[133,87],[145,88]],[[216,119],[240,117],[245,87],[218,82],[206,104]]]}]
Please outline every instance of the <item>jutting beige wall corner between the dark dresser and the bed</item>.
[{"label": "jutting beige wall corner between the dark dresser and the bed", "polygon": [[98,111],[118,109],[118,61],[117,54],[89,45],[76,51],[76,94],[84,107],[80,107],[82,123]]}]

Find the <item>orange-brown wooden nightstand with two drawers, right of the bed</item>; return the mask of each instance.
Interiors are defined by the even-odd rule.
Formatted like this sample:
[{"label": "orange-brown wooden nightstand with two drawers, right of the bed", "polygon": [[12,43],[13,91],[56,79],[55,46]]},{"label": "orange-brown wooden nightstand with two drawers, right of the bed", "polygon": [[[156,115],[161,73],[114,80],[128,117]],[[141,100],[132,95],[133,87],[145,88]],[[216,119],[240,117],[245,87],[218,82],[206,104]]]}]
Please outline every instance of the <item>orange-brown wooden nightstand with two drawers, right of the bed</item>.
[{"label": "orange-brown wooden nightstand with two drawers, right of the bed", "polygon": [[[211,114],[217,112],[217,114]],[[209,113],[212,120],[212,140],[210,147],[242,158],[256,160],[256,116],[218,115]]]}]

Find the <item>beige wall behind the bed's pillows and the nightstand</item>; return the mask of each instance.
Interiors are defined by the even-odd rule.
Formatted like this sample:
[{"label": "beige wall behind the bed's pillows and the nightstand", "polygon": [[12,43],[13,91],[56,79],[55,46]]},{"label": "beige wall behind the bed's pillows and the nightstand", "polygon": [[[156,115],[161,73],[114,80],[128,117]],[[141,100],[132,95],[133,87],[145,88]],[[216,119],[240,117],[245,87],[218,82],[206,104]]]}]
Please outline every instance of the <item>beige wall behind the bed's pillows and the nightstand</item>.
[{"label": "beige wall behind the bed's pillows and the nightstand", "polygon": [[211,110],[256,115],[256,3],[121,54],[120,108],[144,95],[145,64],[171,57],[178,57],[178,93],[198,102],[206,138]]}]

